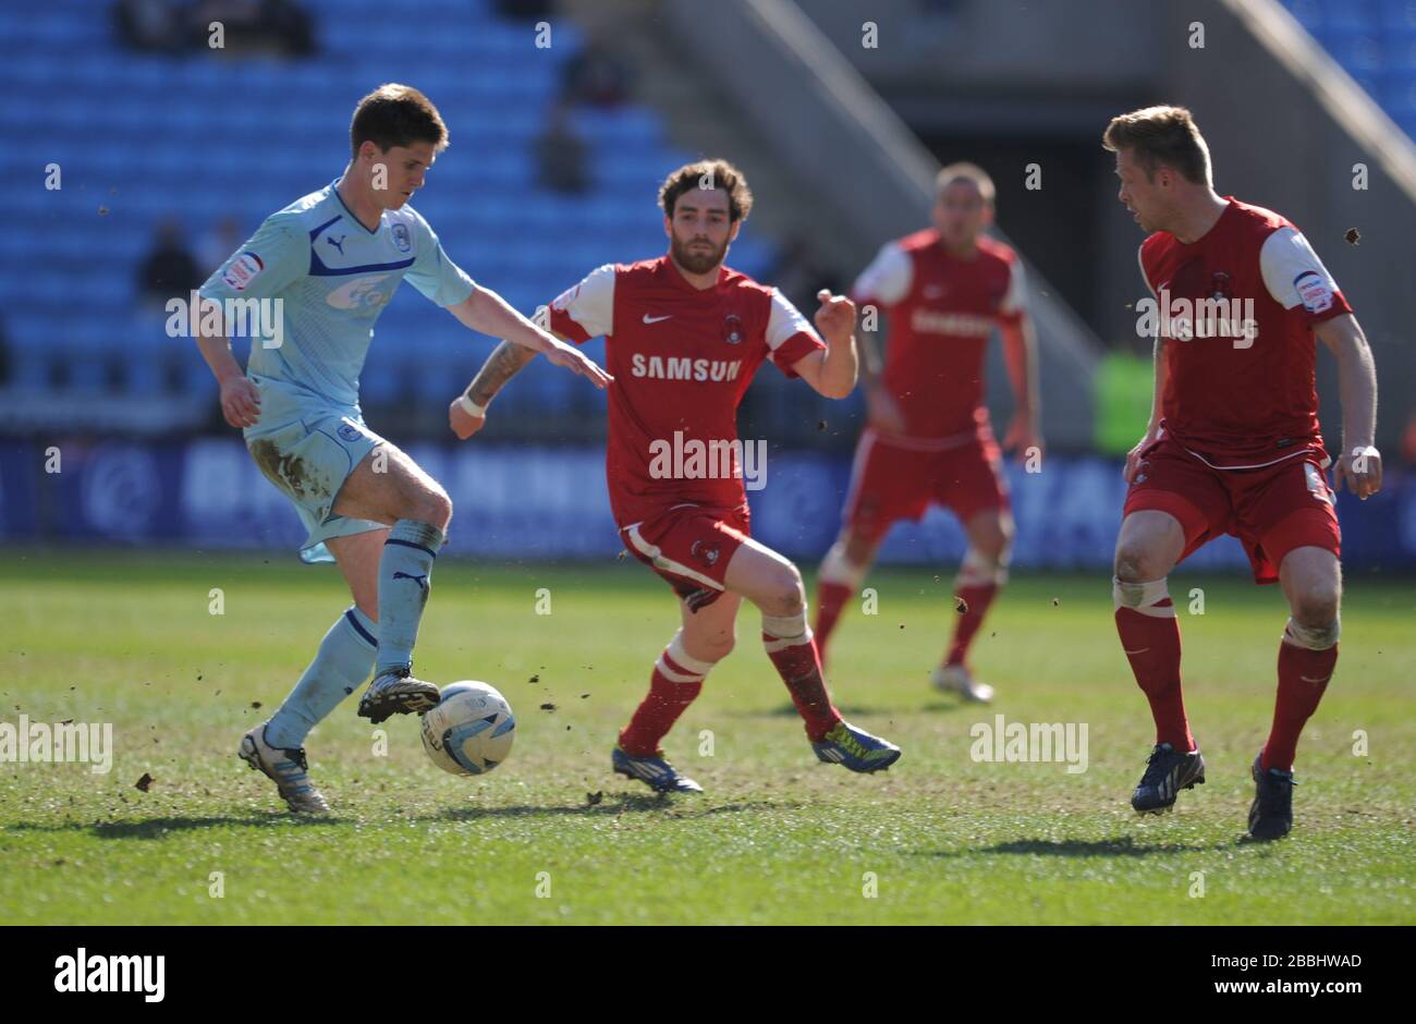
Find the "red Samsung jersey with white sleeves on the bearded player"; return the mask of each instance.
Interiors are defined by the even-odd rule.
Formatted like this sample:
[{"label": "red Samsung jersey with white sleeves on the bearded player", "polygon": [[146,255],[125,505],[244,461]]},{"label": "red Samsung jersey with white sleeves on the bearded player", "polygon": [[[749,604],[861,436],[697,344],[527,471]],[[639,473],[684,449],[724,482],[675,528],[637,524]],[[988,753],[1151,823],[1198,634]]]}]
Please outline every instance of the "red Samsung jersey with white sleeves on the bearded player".
[{"label": "red Samsung jersey with white sleeves on the bearded player", "polygon": [[622,528],[675,504],[745,503],[741,463],[725,473],[718,455],[736,449],[752,375],[772,360],[796,377],[793,363],[826,348],[775,288],[722,268],[716,285],[697,289],[668,256],[605,265],[538,317],[575,341],[606,336],[605,469]]}]

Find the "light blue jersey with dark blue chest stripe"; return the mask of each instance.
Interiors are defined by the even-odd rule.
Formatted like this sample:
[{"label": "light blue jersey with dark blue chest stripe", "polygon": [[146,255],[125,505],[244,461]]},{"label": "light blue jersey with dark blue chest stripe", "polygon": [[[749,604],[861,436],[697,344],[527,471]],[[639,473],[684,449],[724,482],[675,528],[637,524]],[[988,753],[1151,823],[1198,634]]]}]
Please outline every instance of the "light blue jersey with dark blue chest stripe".
[{"label": "light blue jersey with dark blue chest stripe", "polygon": [[357,408],[374,322],[404,278],[439,306],[455,306],[473,290],[472,278],[411,205],[385,210],[370,231],[334,186],[268,217],[201,286],[204,299],[218,302],[282,300],[279,346],[251,344],[246,372],[262,378],[255,431],[289,422],[296,406]]}]

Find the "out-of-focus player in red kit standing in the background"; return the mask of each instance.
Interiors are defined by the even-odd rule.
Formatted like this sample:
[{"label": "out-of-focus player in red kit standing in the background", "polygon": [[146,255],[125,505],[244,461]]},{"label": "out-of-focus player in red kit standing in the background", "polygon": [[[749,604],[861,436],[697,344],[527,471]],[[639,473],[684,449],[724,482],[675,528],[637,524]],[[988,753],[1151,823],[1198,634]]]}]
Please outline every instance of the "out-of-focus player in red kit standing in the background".
[{"label": "out-of-focus player in red kit standing in the background", "polygon": [[976,701],[993,687],[974,680],[966,657],[988,605],[1008,575],[1012,516],[998,445],[983,402],[983,367],[1001,331],[1017,409],[1004,448],[1041,455],[1037,341],[1024,306],[1022,265],[983,234],[993,222],[993,180],[957,163],[936,180],[935,227],[886,244],[851,290],[889,317],[885,371],[869,333],[865,353],[868,422],[855,449],[844,525],[821,562],[816,642],[826,646],[860,589],[885,534],[949,508],[969,537],[956,595],[953,640],[935,669],[940,690]]}]

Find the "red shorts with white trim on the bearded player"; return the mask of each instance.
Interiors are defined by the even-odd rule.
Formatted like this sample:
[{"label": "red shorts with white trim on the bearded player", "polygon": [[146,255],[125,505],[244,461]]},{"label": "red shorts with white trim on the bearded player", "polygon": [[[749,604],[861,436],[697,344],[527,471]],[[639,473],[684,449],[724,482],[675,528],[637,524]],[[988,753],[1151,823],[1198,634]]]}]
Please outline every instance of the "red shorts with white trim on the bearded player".
[{"label": "red shorts with white trim on the bearded player", "polygon": [[746,504],[712,508],[684,504],[620,527],[624,548],[668,581],[697,612],[722,596],[728,562],[750,537]]}]

